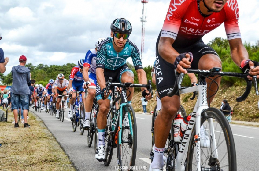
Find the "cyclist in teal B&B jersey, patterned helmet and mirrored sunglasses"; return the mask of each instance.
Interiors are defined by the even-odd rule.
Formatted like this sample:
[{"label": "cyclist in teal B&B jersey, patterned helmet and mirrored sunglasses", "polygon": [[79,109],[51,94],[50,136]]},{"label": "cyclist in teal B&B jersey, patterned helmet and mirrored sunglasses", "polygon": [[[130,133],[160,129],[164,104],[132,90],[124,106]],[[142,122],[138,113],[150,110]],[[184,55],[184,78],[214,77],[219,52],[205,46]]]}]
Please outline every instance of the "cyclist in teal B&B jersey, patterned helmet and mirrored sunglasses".
[{"label": "cyclist in teal B&B jersey, patterned helmet and mirrored sunglasses", "polygon": [[[104,132],[111,99],[111,90],[106,95],[106,81],[108,81],[109,77],[112,77],[113,82],[133,83],[134,74],[126,64],[126,59],[131,56],[133,65],[139,76],[139,84],[147,84],[146,73],[139,58],[139,49],[134,43],[128,40],[132,31],[131,23],[127,19],[117,18],[111,23],[110,28],[111,37],[106,38],[100,43],[96,58],[96,77],[98,82],[96,85],[96,98],[100,106],[97,116],[99,143],[95,154],[95,158],[98,161],[105,161]],[[146,88],[141,88],[141,90],[143,97],[149,100],[151,98],[150,92]],[[127,92],[128,103],[131,103],[133,92],[133,88],[130,88]]]}]

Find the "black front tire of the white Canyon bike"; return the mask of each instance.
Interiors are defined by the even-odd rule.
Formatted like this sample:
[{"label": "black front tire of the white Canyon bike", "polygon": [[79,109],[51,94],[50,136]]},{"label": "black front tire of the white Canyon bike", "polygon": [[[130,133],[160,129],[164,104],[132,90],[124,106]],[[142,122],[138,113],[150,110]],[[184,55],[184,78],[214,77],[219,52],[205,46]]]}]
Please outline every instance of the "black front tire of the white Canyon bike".
[{"label": "black front tire of the white Canyon bike", "polygon": [[[231,128],[230,128],[230,125],[226,119],[226,117],[224,116],[224,114],[222,112],[220,112],[219,109],[216,109],[216,108],[208,108],[208,109],[205,109],[202,114],[201,114],[201,125],[203,124],[206,124],[206,120],[209,119],[209,118],[212,118],[214,121],[217,122],[216,124],[216,128],[214,128],[215,130],[217,129],[217,126],[219,124],[220,128],[222,129],[222,131],[215,131],[215,132],[221,132],[224,134],[224,138],[225,138],[225,144],[226,144],[226,151],[228,154],[225,154],[223,155],[224,157],[225,156],[228,156],[228,169],[224,169],[224,170],[229,170],[229,171],[236,171],[237,170],[237,167],[236,167],[236,151],[235,151],[235,142],[234,142],[234,138],[233,138],[233,134],[232,134],[232,131],[231,131]],[[215,122],[213,122],[213,125],[215,125]],[[208,129],[207,129],[208,130]],[[220,133],[220,135],[221,135]],[[217,133],[215,133],[215,137],[216,137]],[[194,142],[192,141],[194,139],[194,136],[195,136],[195,127],[194,127],[194,130],[192,131],[192,134],[191,134],[191,142],[189,144],[189,147],[188,147],[188,151],[187,151],[187,164],[186,164],[186,170],[187,171],[191,171],[192,170],[192,165],[193,165],[193,156],[194,156]],[[219,143],[217,143],[217,148],[219,148],[221,146],[221,144],[224,144],[224,140],[221,141]],[[211,150],[211,146],[210,145],[210,148],[209,148],[209,151],[212,151]],[[200,148],[201,150],[203,150],[204,148]],[[207,149],[207,148],[205,148]],[[223,151],[223,150],[218,150],[218,151]],[[224,150],[225,151],[225,150]],[[213,152],[211,152],[213,153]],[[202,155],[205,154],[203,153],[203,151],[200,153],[201,154],[201,160],[202,160]],[[208,153],[209,154],[209,153]],[[220,156],[220,155],[219,155]],[[222,155],[221,155],[222,156]],[[194,157],[195,158],[195,157]],[[210,156],[210,159],[212,157]],[[219,161],[219,159],[215,159],[213,158],[215,162],[217,160],[218,163],[220,163],[220,165],[215,165],[214,164],[214,167],[216,166],[227,166],[224,162],[221,163]],[[207,161],[208,162],[208,161]],[[210,162],[211,163],[211,162]],[[216,163],[216,162],[215,162]],[[201,163],[201,167],[203,167],[204,163]],[[205,164],[206,164],[206,161],[205,161]],[[195,164],[194,164],[195,165]],[[217,168],[217,169],[221,169],[221,168]],[[196,167],[195,167],[195,170],[196,170]]]}]

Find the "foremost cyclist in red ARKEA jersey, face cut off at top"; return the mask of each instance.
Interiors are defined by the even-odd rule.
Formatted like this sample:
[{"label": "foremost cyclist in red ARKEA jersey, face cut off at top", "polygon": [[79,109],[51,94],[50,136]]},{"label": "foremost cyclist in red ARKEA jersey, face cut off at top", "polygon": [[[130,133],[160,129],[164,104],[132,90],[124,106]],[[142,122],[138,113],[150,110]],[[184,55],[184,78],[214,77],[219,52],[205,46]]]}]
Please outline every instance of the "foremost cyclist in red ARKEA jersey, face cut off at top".
[{"label": "foremost cyclist in red ARKEA jersey, face cut off at top", "polygon": [[[184,68],[205,69],[220,67],[221,60],[216,51],[205,45],[202,37],[214,30],[224,22],[226,34],[230,44],[231,57],[236,65],[248,59],[248,53],[241,41],[238,27],[239,9],[237,1],[227,0],[186,0],[176,4],[171,0],[162,30],[156,44],[156,85],[162,107],[155,120],[155,147],[154,159],[150,170],[162,170],[164,166],[164,147],[170,131],[172,120],[180,107],[179,92],[173,97],[168,97],[168,90],[172,90],[175,84],[174,69],[177,72],[187,73]],[[189,62],[192,58],[193,61]],[[243,64],[244,62],[242,62]],[[248,62],[247,62],[248,63]],[[258,74],[259,67],[254,68],[254,63],[249,62],[248,70],[251,75]],[[249,68],[250,66],[250,68]],[[241,66],[245,72],[244,65]],[[248,76],[249,79],[252,77]],[[258,76],[257,76],[258,77]],[[220,78],[210,77],[206,79],[209,94],[214,94]],[[208,102],[214,98],[210,96]],[[207,142],[205,129],[201,128],[201,147]],[[210,144],[210,143],[207,143]]]}]

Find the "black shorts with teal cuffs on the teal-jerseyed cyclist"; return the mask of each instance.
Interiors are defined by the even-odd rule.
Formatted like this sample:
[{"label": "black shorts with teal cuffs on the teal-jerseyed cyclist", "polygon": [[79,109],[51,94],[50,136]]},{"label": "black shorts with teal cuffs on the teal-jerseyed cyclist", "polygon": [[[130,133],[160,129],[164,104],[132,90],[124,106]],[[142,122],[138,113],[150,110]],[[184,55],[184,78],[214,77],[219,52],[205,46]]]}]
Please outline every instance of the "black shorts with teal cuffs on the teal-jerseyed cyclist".
[{"label": "black shorts with teal cuffs on the teal-jerseyed cyclist", "polygon": [[[113,82],[115,83],[121,83],[120,79],[121,79],[121,76],[124,72],[131,72],[133,74],[133,72],[131,71],[131,69],[128,67],[127,64],[121,66],[120,68],[118,69],[115,69],[114,71],[113,70],[110,70],[110,69],[104,69],[103,73],[104,73],[104,78],[105,78],[105,82],[107,82],[109,80],[109,77],[112,77],[113,78]],[[101,97],[101,88],[97,82],[96,84],[96,99],[97,101],[102,99]],[[111,99],[111,96],[109,97],[109,99]]]}]

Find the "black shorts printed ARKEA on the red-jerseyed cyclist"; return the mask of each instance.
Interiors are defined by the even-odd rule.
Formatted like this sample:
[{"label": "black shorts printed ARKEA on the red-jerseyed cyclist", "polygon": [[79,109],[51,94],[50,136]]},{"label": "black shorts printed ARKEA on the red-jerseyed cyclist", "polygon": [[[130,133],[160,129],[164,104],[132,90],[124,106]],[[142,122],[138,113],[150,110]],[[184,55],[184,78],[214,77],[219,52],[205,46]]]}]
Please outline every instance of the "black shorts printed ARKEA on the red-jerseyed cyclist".
[{"label": "black shorts printed ARKEA on the red-jerseyed cyclist", "polygon": [[[157,92],[161,99],[167,96],[167,93],[173,89],[176,77],[175,77],[174,65],[166,62],[158,53],[158,43],[159,43],[160,35],[161,35],[161,32],[158,36],[157,44],[156,44],[155,73],[156,73]],[[193,54],[193,61],[191,63],[192,69],[198,69],[199,60],[203,55],[214,54],[219,56],[213,48],[209,47],[208,45],[205,45],[202,39],[200,39],[193,45],[185,48],[179,48],[174,44],[172,45],[172,47],[178,53],[191,52]],[[179,92],[176,95],[179,96]]]}]

